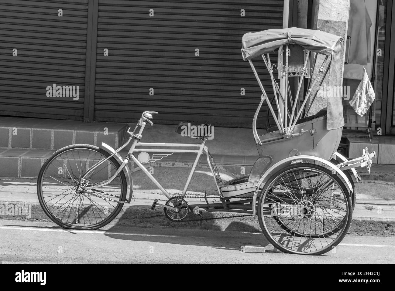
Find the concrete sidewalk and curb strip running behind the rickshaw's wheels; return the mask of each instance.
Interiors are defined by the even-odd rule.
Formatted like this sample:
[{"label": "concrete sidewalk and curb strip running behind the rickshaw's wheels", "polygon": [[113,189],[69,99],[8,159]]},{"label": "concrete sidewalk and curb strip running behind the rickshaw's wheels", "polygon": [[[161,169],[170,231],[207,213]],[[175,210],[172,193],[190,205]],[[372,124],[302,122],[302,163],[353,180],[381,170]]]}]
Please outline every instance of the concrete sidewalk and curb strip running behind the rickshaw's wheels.
[{"label": "concrete sidewalk and curb strip running behind the rickshaw's wheels", "polygon": [[[177,169],[177,168],[173,168]],[[166,170],[166,171],[165,171]],[[156,178],[172,195],[181,193],[182,173],[169,169],[160,172],[157,171]],[[185,172],[182,169],[179,169]],[[215,189],[211,179],[205,177],[208,174],[207,169],[198,169],[196,175],[191,181],[188,196],[203,195],[199,189]],[[175,179],[175,177],[179,179]],[[166,177],[166,181],[164,180]],[[140,179],[139,179],[140,178]],[[150,206],[154,199],[166,201],[167,198],[157,189],[149,180],[143,179],[142,173],[135,173],[135,181],[139,181],[138,188],[134,189],[134,199],[131,204],[125,204],[117,219],[112,224],[128,225],[137,227],[172,227],[172,228],[203,228],[213,230],[232,230],[232,231],[260,231],[258,220],[253,220],[252,216],[239,218],[223,218],[240,215],[240,213],[204,213],[203,218],[223,218],[214,220],[199,221],[198,216],[189,214],[186,220],[196,220],[190,222],[173,223],[165,218],[162,207],[157,207],[154,211]],[[349,233],[356,235],[378,235],[393,236],[395,235],[395,198],[385,197],[386,193],[392,192],[394,185],[382,181],[372,181],[356,184],[357,203],[355,205],[353,220]],[[378,189],[379,188],[379,189]],[[382,196],[375,196],[373,191],[380,193]],[[215,195],[215,193],[213,193]],[[392,194],[393,195],[393,194]],[[203,202],[203,198],[187,198],[188,203]],[[209,198],[209,202],[218,201],[218,198]],[[34,221],[48,221],[47,216],[43,213],[36,194],[36,179],[0,179],[0,205],[24,204],[31,205],[32,217]],[[23,216],[1,216],[2,219],[26,219]]]}]

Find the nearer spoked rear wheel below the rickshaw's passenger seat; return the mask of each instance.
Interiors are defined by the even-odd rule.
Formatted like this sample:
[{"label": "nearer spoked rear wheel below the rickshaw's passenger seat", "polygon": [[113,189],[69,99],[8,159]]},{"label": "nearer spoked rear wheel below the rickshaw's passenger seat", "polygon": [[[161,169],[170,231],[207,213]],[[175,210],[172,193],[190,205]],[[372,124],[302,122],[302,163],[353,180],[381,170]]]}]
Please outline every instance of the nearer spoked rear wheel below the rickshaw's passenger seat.
[{"label": "nearer spoked rear wheel below the rickshaw's passenger seat", "polygon": [[346,235],[351,216],[350,194],[342,180],[316,164],[293,164],[276,172],[258,203],[265,237],[292,254],[328,252]]}]

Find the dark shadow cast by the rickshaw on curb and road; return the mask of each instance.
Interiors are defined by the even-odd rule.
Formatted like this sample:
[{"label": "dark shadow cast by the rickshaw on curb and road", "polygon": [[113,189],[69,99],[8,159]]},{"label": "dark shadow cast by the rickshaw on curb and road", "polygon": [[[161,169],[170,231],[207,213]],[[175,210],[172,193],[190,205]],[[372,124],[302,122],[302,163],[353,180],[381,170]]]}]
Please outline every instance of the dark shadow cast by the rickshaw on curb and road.
[{"label": "dark shadow cast by the rickshaw on curb and road", "polygon": [[259,226],[256,228],[251,225],[251,222],[245,221],[246,218],[243,218],[244,220],[223,218],[232,215],[235,214],[205,213],[203,219],[214,217],[219,219],[200,221],[197,215],[189,213],[185,218],[188,221],[171,222],[165,217],[163,209],[152,211],[147,205],[133,205],[121,211],[115,224],[111,225],[105,235],[130,241],[211,246],[237,251],[246,244],[261,246],[268,244]]}]

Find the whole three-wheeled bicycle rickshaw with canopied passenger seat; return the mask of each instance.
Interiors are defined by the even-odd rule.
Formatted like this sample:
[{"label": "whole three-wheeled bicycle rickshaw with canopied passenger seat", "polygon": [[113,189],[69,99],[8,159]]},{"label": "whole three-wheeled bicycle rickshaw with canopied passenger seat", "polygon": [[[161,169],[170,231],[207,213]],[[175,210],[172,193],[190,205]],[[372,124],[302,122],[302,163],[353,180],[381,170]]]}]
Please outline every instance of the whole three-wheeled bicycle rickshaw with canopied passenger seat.
[{"label": "whole three-wheeled bicycle rickshaw with canopied passenger seat", "polygon": [[[152,126],[151,119],[158,114],[146,111],[134,131],[128,129],[128,141],[117,150],[104,143],[102,147],[76,144],[53,153],[38,176],[41,206],[64,228],[97,229],[108,224],[119,214],[123,204],[132,200],[132,173],[127,166],[132,160],[167,198],[165,203],[155,200],[152,209],[164,207],[166,217],[172,221],[182,221],[191,212],[198,215],[204,211],[247,213],[258,217],[267,240],[283,252],[318,255],[331,250],[350,226],[355,202],[352,176],[356,182],[360,179],[355,167],[370,168],[376,156],[367,149],[363,150],[362,157],[353,160],[337,153],[344,122],[335,120],[338,127],[333,126],[333,108],[339,102],[342,106],[340,97],[329,97],[327,108],[309,114],[341,45],[339,36],[301,28],[250,32],[243,36],[243,59],[250,63],[262,91],[252,122],[259,157],[250,174],[222,181],[205,145],[209,132],[190,136],[199,138],[198,144],[141,142],[145,126]],[[278,50],[278,78],[284,80],[284,90],[280,89],[273,73],[269,53],[274,50]],[[270,75],[271,100],[252,63],[256,58],[263,60]],[[297,86],[291,88],[289,80],[295,77]],[[303,91],[307,93],[301,99],[305,78],[308,78],[307,89]],[[258,134],[256,123],[264,103],[276,126]],[[185,124],[180,123],[176,131],[180,133]],[[121,157],[120,151],[130,142],[126,157]],[[150,152],[196,154],[181,194],[171,196],[145,168]],[[185,195],[202,154],[206,155],[213,174],[219,201],[188,204]]]}]

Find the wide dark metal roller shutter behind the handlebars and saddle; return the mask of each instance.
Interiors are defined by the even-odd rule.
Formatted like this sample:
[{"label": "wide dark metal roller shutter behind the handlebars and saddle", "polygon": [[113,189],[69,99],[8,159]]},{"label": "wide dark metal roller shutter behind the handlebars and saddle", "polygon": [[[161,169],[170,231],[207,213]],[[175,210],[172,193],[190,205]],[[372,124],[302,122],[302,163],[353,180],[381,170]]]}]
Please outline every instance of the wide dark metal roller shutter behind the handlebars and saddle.
[{"label": "wide dark metal roller shutter behind the handlebars and saddle", "polygon": [[[261,92],[242,60],[241,37],[282,28],[283,5],[282,0],[100,0],[95,120],[128,122],[155,110],[159,123],[209,120],[250,127]],[[257,69],[270,94],[269,74]]]}]

